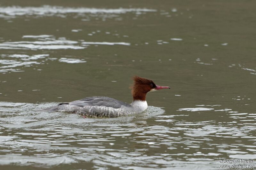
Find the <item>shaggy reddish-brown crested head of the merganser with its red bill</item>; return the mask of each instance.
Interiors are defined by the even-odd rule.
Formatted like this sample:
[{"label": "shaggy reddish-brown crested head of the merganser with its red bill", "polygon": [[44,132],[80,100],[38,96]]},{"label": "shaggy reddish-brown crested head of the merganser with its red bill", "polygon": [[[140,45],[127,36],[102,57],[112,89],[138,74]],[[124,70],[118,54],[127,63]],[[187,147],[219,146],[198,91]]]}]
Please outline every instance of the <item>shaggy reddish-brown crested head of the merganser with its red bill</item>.
[{"label": "shaggy reddish-brown crested head of the merganser with its red bill", "polygon": [[170,89],[170,87],[157,86],[152,80],[139,76],[133,77],[132,96],[133,100],[146,100],[146,95],[150,91],[156,91],[158,89]]}]

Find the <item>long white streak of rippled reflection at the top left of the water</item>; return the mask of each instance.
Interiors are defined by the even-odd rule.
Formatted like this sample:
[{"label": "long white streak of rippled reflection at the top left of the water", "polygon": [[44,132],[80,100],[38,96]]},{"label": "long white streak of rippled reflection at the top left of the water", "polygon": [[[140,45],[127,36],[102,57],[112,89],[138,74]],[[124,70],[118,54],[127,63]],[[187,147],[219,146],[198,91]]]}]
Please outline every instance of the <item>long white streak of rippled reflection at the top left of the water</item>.
[{"label": "long white streak of rippled reflection at the top left of the water", "polygon": [[[67,15],[73,15],[73,18],[81,18],[82,21],[90,21],[92,19],[101,18],[102,21],[106,19],[116,18],[116,21],[121,21],[120,14],[134,13],[136,16],[146,14],[147,12],[156,12],[155,9],[146,8],[117,8],[117,9],[100,9],[100,8],[71,8],[61,6],[44,5],[41,7],[20,7],[20,6],[0,6],[0,18],[13,19],[22,16],[39,18],[39,17],[60,17],[66,18]],[[74,32],[77,32],[75,30]]]}]

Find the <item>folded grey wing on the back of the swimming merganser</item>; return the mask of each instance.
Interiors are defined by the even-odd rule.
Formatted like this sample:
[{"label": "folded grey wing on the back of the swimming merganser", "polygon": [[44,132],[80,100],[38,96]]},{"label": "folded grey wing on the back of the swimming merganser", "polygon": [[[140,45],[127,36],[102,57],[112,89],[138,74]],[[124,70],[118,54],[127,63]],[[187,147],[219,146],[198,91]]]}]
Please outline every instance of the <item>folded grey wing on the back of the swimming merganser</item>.
[{"label": "folded grey wing on the back of the swimming merganser", "polygon": [[[62,104],[62,103],[61,103]],[[119,109],[122,105],[124,106],[131,106],[130,104],[118,101],[116,99],[110,97],[87,97],[81,100],[76,100],[73,102],[65,103],[72,106],[79,106],[79,107],[87,107],[87,106],[105,106],[105,107],[112,107],[114,109]]]}]

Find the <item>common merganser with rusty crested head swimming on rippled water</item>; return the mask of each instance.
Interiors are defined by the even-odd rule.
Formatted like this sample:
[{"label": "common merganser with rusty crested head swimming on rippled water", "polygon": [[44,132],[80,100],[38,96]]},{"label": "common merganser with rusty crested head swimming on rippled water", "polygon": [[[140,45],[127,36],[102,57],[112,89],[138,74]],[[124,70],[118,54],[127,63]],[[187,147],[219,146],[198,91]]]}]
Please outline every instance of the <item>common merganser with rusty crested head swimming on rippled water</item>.
[{"label": "common merganser with rusty crested head swimming on rippled water", "polygon": [[86,97],[69,103],[60,103],[47,110],[65,111],[92,118],[112,118],[127,114],[141,113],[148,108],[146,95],[148,92],[170,87],[157,86],[152,80],[139,76],[133,77],[131,104],[110,97]]}]

